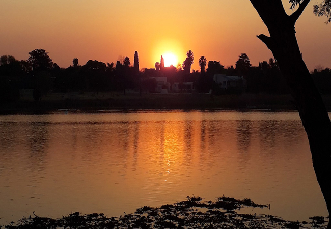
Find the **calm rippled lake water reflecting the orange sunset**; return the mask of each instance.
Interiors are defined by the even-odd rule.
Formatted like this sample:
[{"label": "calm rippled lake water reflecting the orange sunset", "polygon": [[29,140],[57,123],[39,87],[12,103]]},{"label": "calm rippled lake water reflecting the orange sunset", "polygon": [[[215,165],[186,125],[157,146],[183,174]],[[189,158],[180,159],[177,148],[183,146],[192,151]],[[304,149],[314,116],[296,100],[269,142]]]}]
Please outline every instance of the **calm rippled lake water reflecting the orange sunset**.
[{"label": "calm rippled lake water reflecting the orange sunset", "polygon": [[0,225],[192,194],[251,198],[289,220],[327,215],[295,112],[0,116],[0,145]]}]

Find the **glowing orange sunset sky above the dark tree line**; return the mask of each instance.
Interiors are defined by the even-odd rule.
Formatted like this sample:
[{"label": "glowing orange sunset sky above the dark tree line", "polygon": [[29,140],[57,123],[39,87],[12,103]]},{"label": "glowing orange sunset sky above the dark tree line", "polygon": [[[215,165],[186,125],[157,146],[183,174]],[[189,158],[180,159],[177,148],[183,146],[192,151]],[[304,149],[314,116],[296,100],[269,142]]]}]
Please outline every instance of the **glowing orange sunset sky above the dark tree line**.
[{"label": "glowing orange sunset sky above the dark tree line", "polygon": [[[288,9],[288,1],[284,1]],[[302,56],[310,70],[331,67],[331,25],[313,13],[311,1],[296,24]],[[253,65],[272,54],[256,35],[267,29],[249,0],[3,0],[0,8],[0,55],[26,60],[45,49],[60,67],[74,58],[116,62],[139,52],[140,68],[154,67],[172,52],[182,63],[186,52],[198,59],[235,65],[247,53]],[[288,11],[291,12],[291,11]]]}]

